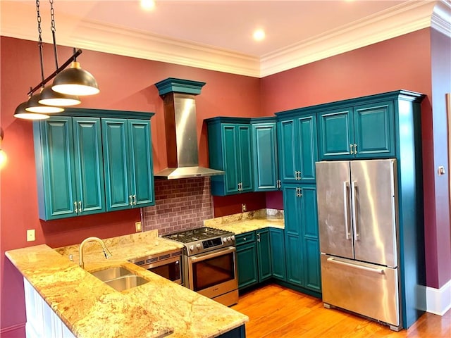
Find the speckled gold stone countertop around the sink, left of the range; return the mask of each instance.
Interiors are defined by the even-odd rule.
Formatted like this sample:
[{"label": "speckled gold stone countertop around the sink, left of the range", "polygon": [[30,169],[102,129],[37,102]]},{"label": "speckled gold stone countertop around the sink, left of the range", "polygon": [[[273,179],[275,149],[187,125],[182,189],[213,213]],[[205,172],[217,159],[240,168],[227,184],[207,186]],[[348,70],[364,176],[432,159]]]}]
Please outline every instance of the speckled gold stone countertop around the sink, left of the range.
[{"label": "speckled gold stone countertop around the sink, left of the range", "polygon": [[[6,256],[79,338],[209,338],[249,320],[127,261],[177,249],[181,244],[160,238],[155,231],[104,242],[113,257],[106,260],[98,243],[89,244],[86,253],[83,251],[85,270],[78,266],[78,246],[30,246],[6,251]],[[69,254],[75,262],[68,259]],[[87,272],[110,266],[128,268],[149,282],[118,292]]]}]

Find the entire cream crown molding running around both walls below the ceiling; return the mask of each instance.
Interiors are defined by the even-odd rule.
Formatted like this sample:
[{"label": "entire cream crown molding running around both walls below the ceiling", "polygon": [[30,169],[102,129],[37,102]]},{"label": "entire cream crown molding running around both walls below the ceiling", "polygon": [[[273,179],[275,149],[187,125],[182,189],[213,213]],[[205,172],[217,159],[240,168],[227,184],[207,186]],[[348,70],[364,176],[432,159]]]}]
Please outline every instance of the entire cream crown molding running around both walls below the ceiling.
[{"label": "entire cream crown molding running around both walls below the ceiling", "polygon": [[[271,52],[261,58],[140,30],[125,30],[117,25],[92,20],[80,22],[77,18],[67,15],[58,17],[58,20],[64,20],[65,25],[58,27],[57,36],[58,44],[63,46],[76,46],[237,75],[265,77],[425,27],[433,27],[451,36],[450,13],[449,0],[411,0],[344,25],[338,30],[330,30]],[[34,20],[29,20],[29,26],[29,21],[23,25],[14,18],[2,15],[1,19],[1,35],[36,39]],[[30,35],[30,32],[33,34]],[[44,42],[52,43],[51,35],[43,34],[42,39]]]}]

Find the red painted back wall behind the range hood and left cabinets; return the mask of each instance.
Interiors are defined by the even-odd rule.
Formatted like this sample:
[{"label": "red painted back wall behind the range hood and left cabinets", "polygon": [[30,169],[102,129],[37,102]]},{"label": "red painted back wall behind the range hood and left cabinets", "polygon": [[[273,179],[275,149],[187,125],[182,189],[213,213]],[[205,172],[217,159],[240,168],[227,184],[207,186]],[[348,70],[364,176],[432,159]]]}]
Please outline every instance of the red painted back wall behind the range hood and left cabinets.
[{"label": "red painted back wall behind the range hood and left cabinets", "polygon": [[[32,123],[13,118],[16,106],[27,99],[30,87],[40,81],[37,43],[1,37],[0,118],[4,130],[2,149],[8,163],[1,170],[1,337],[24,337],[25,307],[22,277],[4,251],[37,244],[52,247],[80,243],[89,236],[113,237],[135,231],[140,210],[118,211],[51,222],[38,219]],[[53,50],[44,44],[44,74],[54,71]],[[72,49],[58,47],[66,61]],[[206,82],[196,96],[199,164],[208,165],[204,118],[216,115],[261,116],[260,80],[211,70],[190,68],[138,58],[84,50],[78,58],[92,73],[101,93],[85,97],[80,107],[152,111],[154,170],[166,168],[163,101],[154,83],[167,77]],[[264,204],[263,204],[264,206]],[[36,230],[36,242],[25,242],[26,230]]]}]

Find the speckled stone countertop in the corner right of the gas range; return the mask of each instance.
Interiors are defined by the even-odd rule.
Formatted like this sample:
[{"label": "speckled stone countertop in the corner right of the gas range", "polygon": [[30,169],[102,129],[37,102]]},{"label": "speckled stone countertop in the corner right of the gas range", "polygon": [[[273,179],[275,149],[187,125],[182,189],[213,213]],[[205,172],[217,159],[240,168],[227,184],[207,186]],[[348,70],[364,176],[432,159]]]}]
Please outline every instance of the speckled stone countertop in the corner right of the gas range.
[{"label": "speckled stone countertop in the corner right of the gas range", "polygon": [[245,232],[263,229],[264,227],[285,228],[283,211],[276,209],[260,209],[245,213],[236,213],[210,220],[204,220],[206,227],[216,227],[222,230],[243,234]]}]

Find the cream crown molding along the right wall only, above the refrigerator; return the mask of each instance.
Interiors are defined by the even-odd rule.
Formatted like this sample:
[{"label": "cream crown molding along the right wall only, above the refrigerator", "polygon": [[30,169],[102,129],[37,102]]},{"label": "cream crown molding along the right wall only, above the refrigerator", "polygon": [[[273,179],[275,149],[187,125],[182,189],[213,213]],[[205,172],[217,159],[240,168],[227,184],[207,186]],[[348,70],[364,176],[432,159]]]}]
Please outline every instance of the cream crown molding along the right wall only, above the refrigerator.
[{"label": "cream crown molding along the right wall only, above the refrigerator", "polygon": [[[408,1],[261,57],[260,77],[431,26],[438,1]],[[444,1],[443,1],[444,2]]]}]

